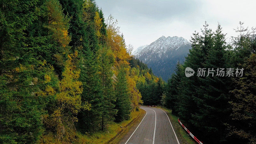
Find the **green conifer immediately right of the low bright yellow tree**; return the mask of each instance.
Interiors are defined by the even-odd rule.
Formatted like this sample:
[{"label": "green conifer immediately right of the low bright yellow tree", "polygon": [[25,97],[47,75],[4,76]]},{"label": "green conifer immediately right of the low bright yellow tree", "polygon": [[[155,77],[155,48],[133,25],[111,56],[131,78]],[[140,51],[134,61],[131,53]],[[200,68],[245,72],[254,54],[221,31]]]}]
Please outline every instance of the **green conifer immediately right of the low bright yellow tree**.
[{"label": "green conifer immediately right of the low bright yellow tree", "polygon": [[78,114],[78,129],[82,132],[97,131],[100,129],[103,112],[101,79],[98,73],[99,64],[91,50],[81,53],[79,80],[83,82],[82,102],[88,101],[91,109],[82,110]]}]

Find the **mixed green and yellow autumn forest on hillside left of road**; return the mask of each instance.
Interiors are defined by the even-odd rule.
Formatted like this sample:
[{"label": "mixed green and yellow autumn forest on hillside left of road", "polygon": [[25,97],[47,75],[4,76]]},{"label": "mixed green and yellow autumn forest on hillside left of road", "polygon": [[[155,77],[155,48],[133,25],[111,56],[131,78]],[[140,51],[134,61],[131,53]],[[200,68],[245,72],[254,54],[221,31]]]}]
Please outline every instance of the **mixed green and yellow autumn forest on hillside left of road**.
[{"label": "mixed green and yellow autumn forest on hillside left of road", "polygon": [[[145,78],[129,67],[123,36],[107,36],[94,1],[1,1],[0,36],[2,143],[49,137],[71,143],[76,129],[97,132],[113,123],[116,93],[124,98],[118,100],[118,121],[129,119],[131,106],[141,103],[135,81]],[[108,45],[113,37],[120,43]],[[117,58],[127,73],[120,73],[115,90]]]}]

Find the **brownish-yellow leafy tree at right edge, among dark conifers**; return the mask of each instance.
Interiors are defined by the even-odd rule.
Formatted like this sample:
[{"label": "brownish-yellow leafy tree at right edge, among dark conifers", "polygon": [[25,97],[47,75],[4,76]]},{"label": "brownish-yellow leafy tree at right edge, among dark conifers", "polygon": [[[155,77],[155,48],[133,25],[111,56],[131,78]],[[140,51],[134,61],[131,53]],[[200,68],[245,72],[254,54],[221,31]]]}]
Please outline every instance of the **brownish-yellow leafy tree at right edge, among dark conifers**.
[{"label": "brownish-yellow leafy tree at right edge, among dark conifers", "polygon": [[[228,136],[237,142],[254,143],[256,141],[256,55],[251,54],[244,64],[244,76],[236,78],[235,88],[230,91],[232,97],[230,104],[232,106],[232,122],[228,123]],[[237,124],[239,123],[239,124]]]}]

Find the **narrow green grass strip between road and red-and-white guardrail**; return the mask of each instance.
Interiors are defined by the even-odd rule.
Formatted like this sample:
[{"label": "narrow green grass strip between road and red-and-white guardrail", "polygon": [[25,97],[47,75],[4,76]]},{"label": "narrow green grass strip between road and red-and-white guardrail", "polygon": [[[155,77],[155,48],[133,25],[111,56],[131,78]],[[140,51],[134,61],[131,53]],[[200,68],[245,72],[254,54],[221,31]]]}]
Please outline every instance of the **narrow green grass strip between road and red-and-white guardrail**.
[{"label": "narrow green grass strip between road and red-and-white guardrail", "polygon": [[186,132],[178,122],[178,117],[172,114],[171,109],[167,109],[161,106],[157,106],[156,108],[161,108],[169,116],[172,126],[176,132],[176,135],[181,139],[180,143],[196,144],[195,140],[191,138],[188,132]]}]

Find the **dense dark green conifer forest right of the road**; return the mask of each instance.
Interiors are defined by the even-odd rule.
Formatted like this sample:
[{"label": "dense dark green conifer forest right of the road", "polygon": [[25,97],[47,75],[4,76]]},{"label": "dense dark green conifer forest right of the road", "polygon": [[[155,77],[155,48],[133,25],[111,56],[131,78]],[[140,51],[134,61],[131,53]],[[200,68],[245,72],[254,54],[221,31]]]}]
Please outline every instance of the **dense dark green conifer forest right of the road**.
[{"label": "dense dark green conifer forest right of the road", "polygon": [[[205,143],[256,142],[255,28],[239,22],[236,32],[227,44],[220,24],[212,31],[205,22],[201,33],[193,33],[192,49],[164,88],[162,104]],[[244,74],[186,77],[186,67],[244,68]]]}]

